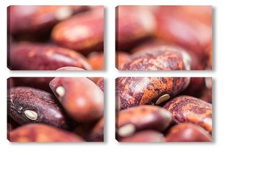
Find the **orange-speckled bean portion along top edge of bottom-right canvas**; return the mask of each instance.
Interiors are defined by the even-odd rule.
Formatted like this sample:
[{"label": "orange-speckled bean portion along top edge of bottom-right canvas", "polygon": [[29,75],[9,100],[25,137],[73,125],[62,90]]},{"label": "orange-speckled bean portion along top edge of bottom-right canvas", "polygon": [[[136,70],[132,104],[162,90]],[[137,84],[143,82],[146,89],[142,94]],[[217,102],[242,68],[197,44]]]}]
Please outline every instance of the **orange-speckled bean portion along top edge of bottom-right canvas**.
[{"label": "orange-speckled bean portion along top edge of bottom-right canvas", "polygon": [[[143,104],[162,104],[189,85],[189,77],[118,77],[116,91],[120,109]],[[162,96],[166,96],[162,101]]]}]

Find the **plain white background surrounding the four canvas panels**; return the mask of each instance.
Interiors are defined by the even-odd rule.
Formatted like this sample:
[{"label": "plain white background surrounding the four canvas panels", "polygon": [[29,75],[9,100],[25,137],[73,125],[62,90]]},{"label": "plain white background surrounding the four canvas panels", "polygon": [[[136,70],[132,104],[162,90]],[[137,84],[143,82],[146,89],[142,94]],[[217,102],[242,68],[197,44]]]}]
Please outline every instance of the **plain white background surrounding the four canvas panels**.
[{"label": "plain white background surrounding the four canvas panels", "polygon": [[[149,1],[146,1],[149,2]],[[10,4],[105,5],[103,72],[18,72],[7,69],[7,11]],[[154,1],[214,7],[214,71],[165,73],[214,78],[214,142],[211,144],[118,144],[115,133],[115,7],[129,1],[1,0],[0,185],[256,185],[255,18],[253,1]],[[145,72],[147,73],[147,72]],[[147,73],[155,76],[153,72]],[[104,76],[105,143],[10,144],[7,77]],[[128,73],[128,75],[131,75]],[[141,74],[132,73],[134,76]]]}]

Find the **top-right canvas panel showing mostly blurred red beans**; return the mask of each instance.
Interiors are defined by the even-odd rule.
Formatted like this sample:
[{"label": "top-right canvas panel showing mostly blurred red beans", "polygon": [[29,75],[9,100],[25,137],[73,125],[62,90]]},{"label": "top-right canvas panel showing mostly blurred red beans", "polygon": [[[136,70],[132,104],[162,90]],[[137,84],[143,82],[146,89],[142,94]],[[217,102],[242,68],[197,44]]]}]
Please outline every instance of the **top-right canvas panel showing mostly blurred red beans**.
[{"label": "top-right canvas panel showing mostly blurred red beans", "polygon": [[116,68],[212,69],[211,6],[116,7]]}]

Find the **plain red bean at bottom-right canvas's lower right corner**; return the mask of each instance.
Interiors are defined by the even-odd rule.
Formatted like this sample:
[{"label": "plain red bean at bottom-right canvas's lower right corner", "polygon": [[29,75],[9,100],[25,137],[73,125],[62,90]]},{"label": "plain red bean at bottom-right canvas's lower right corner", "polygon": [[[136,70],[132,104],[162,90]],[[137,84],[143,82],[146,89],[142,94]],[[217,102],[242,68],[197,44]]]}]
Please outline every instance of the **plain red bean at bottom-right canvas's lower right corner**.
[{"label": "plain red bean at bottom-right canvas's lower right corner", "polygon": [[211,135],[199,125],[178,123],[170,128],[165,142],[211,142]]}]

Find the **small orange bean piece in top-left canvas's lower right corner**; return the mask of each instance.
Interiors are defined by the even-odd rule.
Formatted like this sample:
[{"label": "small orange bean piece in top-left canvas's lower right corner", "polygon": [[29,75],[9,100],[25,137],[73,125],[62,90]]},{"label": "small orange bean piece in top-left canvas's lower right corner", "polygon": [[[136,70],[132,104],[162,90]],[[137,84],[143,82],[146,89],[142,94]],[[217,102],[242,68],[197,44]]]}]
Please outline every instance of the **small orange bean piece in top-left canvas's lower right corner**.
[{"label": "small orange bean piece in top-left canvas's lower right corner", "polygon": [[104,53],[91,53],[88,56],[89,64],[93,70],[104,69]]}]

